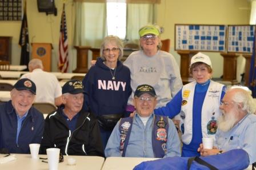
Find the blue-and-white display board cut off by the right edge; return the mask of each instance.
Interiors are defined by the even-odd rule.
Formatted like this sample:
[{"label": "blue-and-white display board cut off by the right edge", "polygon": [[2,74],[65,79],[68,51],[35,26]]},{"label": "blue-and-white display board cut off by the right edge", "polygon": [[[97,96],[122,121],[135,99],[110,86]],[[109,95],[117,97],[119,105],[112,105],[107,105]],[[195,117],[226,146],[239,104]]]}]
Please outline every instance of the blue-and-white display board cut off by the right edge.
[{"label": "blue-and-white display board cut off by the right edge", "polygon": [[252,53],[255,25],[229,25],[227,52]]}]

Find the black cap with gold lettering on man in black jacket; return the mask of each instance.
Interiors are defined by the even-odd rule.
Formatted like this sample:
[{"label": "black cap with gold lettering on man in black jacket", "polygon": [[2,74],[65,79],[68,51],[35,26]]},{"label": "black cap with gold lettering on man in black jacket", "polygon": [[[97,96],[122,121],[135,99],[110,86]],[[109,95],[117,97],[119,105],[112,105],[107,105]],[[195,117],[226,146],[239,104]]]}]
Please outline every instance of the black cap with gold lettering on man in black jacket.
[{"label": "black cap with gold lettering on man in black jacket", "polygon": [[73,95],[85,93],[85,91],[83,91],[83,83],[79,80],[69,80],[62,87],[62,94],[67,92]]}]

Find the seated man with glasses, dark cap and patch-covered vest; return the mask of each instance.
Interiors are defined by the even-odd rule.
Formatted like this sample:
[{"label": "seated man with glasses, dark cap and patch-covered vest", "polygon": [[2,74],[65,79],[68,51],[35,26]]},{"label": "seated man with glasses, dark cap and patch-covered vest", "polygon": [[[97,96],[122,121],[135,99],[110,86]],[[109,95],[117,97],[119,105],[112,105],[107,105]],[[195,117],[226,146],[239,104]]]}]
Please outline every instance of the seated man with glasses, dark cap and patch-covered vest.
[{"label": "seated man with glasses, dark cap and patch-covered vest", "polygon": [[173,122],[154,115],[157,104],[154,87],[142,84],[134,92],[133,118],[119,120],[105,149],[106,157],[181,156],[181,145]]}]

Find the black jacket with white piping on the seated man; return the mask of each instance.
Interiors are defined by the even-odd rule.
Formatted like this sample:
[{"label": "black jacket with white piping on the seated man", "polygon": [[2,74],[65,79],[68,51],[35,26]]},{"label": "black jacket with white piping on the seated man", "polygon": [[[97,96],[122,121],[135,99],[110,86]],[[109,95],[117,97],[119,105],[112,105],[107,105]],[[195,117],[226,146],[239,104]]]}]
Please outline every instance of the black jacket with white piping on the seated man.
[{"label": "black jacket with white piping on the seated man", "polygon": [[40,152],[46,154],[47,148],[56,147],[63,155],[103,156],[100,131],[94,116],[80,111],[76,129],[71,133],[61,115],[62,109],[63,106],[59,107],[45,119]]}]

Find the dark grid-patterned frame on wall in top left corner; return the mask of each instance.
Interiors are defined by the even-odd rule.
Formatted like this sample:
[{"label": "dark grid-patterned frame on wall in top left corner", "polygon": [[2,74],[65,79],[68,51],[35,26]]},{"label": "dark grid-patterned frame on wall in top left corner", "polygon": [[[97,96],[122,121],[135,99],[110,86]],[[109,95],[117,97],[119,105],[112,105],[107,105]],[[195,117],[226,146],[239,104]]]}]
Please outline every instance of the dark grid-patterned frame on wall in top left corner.
[{"label": "dark grid-patterned frame on wall in top left corner", "polygon": [[0,0],[0,21],[20,21],[22,0]]}]

